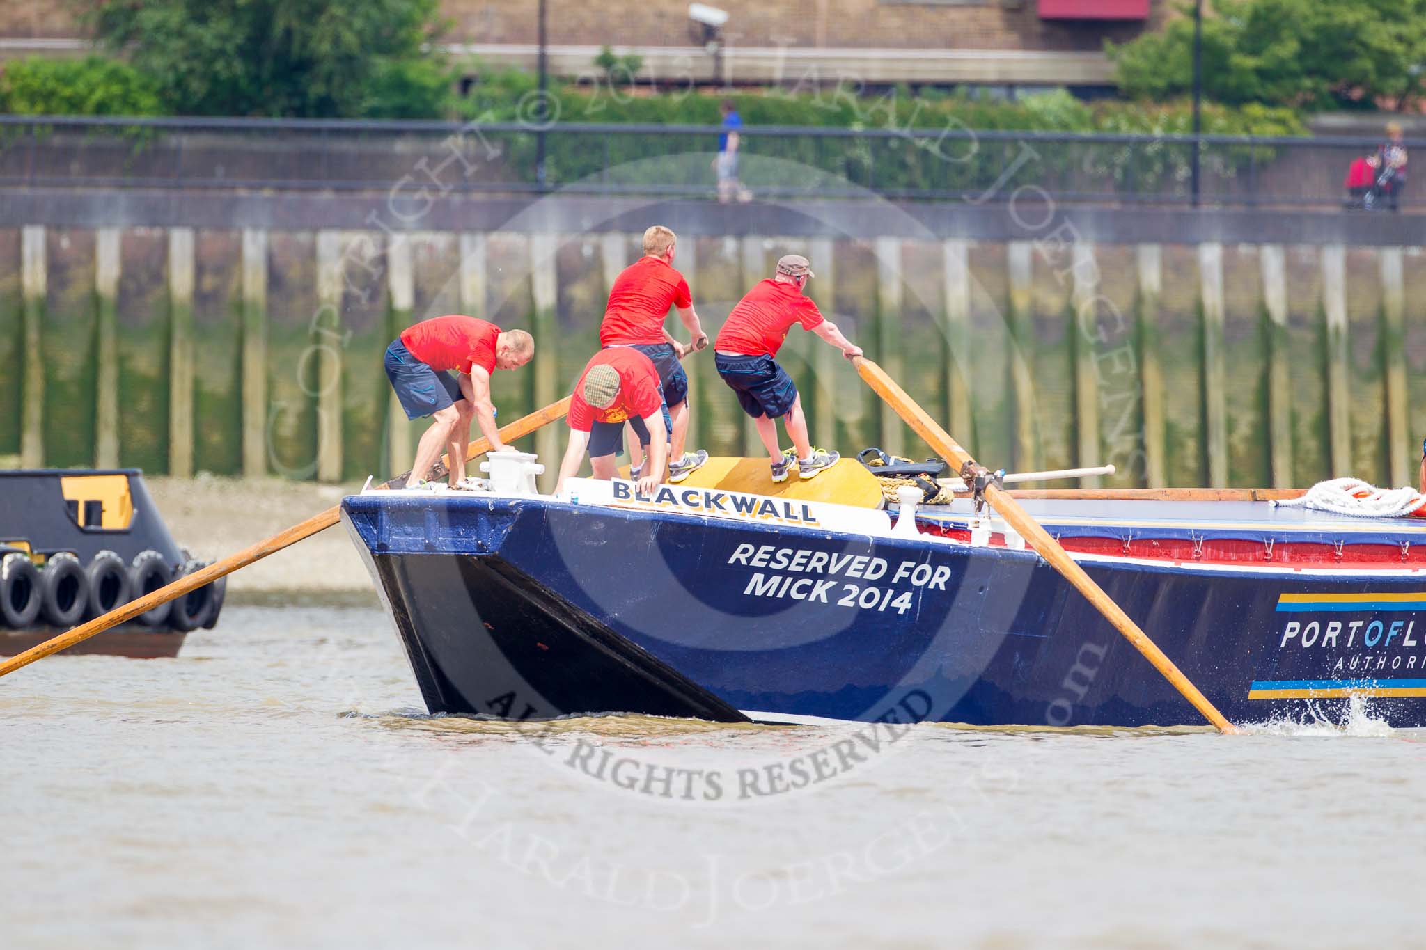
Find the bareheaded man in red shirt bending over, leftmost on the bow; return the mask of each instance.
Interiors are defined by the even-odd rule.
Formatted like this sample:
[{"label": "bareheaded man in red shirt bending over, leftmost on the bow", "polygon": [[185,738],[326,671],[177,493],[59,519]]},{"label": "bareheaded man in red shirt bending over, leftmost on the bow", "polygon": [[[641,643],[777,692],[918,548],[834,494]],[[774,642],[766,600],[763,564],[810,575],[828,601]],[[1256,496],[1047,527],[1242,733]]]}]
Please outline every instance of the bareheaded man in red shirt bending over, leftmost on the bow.
[{"label": "bareheaded man in red shirt bending over, leftmost on the bow", "polygon": [[386,379],[406,419],[435,417],[416,446],[408,489],[425,481],[442,449],[451,457],[451,487],[461,486],[472,419],[479,420],[491,451],[506,447],[495,427],[491,373],[519,369],[532,356],[535,339],[525,330],[501,330],[495,323],[459,313],[421,320],[401,332],[386,348]]}]

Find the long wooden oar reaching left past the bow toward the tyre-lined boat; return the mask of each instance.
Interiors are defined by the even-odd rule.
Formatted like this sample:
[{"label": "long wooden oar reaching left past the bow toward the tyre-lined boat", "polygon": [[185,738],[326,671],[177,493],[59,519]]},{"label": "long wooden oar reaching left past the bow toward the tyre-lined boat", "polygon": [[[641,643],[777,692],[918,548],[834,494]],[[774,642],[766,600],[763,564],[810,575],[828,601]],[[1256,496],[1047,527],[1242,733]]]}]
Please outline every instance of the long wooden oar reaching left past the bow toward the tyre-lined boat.
[{"label": "long wooden oar reaching left past the bow toward the tyre-lined boat", "polygon": [[[516,419],[509,426],[501,429],[501,440],[515,442],[522,436],[530,434],[540,426],[549,424],[556,419],[563,419],[565,413],[568,412],[569,412],[569,396],[565,396],[558,403],[545,406],[545,409],[533,412],[522,419]],[[466,449],[466,461],[475,459],[476,456],[482,456],[489,450],[491,450],[491,442],[483,437],[478,439],[472,442]],[[441,456],[442,469],[445,469],[446,461],[448,461],[446,456]],[[405,484],[406,477],[409,474],[411,473],[408,471],[404,476],[392,479],[391,481],[386,483],[386,487]],[[446,471],[442,470],[441,474],[446,474]],[[0,662],[0,677],[14,672],[20,667],[29,667],[36,659],[44,659],[50,654],[57,654],[61,649],[66,649],[67,647],[73,647],[74,644],[83,640],[88,640],[94,634],[103,634],[110,627],[117,627],[118,624],[123,624],[125,620],[133,620],[140,614],[151,611],[160,604],[167,604],[171,600],[177,600],[184,594],[195,591],[204,584],[211,584],[220,577],[225,577],[227,574],[231,574],[238,568],[247,567],[254,561],[261,561],[268,554],[274,554],[285,547],[291,547],[298,541],[301,541],[302,538],[312,537],[318,531],[325,531],[327,528],[337,524],[338,520],[341,520],[341,506],[334,504],[325,511],[314,514],[301,524],[294,524],[281,534],[274,534],[272,537],[264,541],[258,541],[252,547],[244,548],[237,554],[232,554],[231,557],[210,564],[208,567],[194,571],[193,574],[185,574],[180,577],[177,581],[168,584],[167,587],[160,587],[153,594],[144,594],[143,597],[135,597],[134,600],[111,610],[103,617],[96,617],[87,624],[80,624],[78,627],[76,627],[68,632],[60,634],[58,637],[53,637],[44,641],[39,647],[33,647],[24,651],[23,654],[10,657],[9,659]]]}]

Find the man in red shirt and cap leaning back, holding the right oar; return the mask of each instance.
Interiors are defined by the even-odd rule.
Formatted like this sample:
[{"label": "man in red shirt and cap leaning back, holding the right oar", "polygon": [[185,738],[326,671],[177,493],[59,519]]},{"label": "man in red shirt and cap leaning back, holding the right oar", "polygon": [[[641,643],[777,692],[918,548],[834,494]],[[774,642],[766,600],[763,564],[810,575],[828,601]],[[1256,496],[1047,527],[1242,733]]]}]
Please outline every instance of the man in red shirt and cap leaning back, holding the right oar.
[{"label": "man in red shirt and cap leaning back, holding the right oar", "polygon": [[[813,479],[836,464],[836,451],[817,449],[807,437],[807,417],[801,396],[787,370],[773,359],[787,339],[793,323],[801,323],[841,350],[847,359],[861,356],[861,348],[847,340],[829,323],[817,305],[803,296],[807,278],[813,276],[807,258],[790,254],[777,262],[777,275],[761,281],[739,301],[713,343],[717,373],[733,392],[743,412],[753,417],[757,434],[767,447],[773,481],[786,481],[796,469],[801,479]],[[784,419],[787,434],[797,449],[784,454],[777,446],[777,419]]]}]

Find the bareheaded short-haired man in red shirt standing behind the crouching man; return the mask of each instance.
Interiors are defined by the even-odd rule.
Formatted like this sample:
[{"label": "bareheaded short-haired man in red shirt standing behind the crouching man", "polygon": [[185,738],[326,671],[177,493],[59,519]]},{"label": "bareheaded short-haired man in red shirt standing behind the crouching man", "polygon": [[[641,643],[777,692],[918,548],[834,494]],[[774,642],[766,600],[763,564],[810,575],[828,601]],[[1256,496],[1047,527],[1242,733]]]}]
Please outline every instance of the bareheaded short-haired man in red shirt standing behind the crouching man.
[{"label": "bareheaded short-haired man in red shirt standing behind the crouching man", "polygon": [[[689,377],[679,362],[689,350],[700,350],[709,345],[707,333],[693,309],[689,282],[673,269],[677,238],[663,225],[653,225],[643,232],[643,256],[623,269],[609,289],[609,303],[605,319],[599,325],[600,346],[630,346],[647,356],[663,385],[663,397],[673,420],[673,437],[669,454],[669,481],[683,481],[709,460],[709,453],[684,451],[689,434]],[[679,319],[687,328],[690,342],[679,343],[665,329],[663,319],[669,306],[679,309]],[[616,450],[623,449],[623,440]],[[637,451],[629,453],[639,469]]]}]

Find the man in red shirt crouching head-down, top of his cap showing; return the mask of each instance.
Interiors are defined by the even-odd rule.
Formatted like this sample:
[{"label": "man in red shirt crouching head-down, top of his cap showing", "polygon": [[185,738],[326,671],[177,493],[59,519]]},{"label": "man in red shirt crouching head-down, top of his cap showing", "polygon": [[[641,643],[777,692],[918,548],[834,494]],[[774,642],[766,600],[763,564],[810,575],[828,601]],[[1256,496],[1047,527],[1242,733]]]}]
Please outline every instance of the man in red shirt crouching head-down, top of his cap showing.
[{"label": "man in red shirt crouching head-down, top of his cap showing", "polygon": [[586,449],[596,479],[615,476],[615,451],[625,422],[633,427],[646,453],[639,491],[649,494],[662,481],[673,423],[663,403],[659,370],[647,356],[629,346],[612,346],[595,353],[575,383],[568,419],[569,449],[559,466],[555,494],[563,490],[566,479],[579,471]]}]

